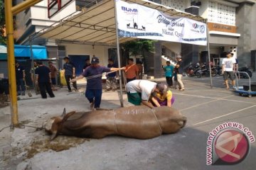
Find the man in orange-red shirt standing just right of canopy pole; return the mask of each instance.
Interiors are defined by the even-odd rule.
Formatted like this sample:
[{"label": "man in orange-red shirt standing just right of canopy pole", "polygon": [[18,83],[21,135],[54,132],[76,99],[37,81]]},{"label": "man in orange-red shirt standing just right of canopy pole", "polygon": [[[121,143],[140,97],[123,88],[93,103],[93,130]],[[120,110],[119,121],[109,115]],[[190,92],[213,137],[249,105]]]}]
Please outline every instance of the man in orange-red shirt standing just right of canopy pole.
[{"label": "man in orange-red shirt standing just right of canopy pole", "polygon": [[136,64],[134,64],[134,60],[130,58],[128,60],[128,64],[125,67],[125,77],[127,79],[127,83],[134,79],[139,79],[139,69]]}]

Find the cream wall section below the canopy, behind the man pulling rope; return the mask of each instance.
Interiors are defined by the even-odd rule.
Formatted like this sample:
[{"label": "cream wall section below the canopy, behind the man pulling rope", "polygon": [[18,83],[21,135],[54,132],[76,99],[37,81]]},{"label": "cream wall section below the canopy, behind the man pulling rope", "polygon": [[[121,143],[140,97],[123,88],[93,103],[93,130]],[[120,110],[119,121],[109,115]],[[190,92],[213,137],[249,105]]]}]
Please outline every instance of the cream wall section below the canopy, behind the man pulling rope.
[{"label": "cream wall section below the canopy, behind the man pulling rope", "polygon": [[93,55],[99,57],[100,65],[107,66],[108,60],[108,49],[115,48],[115,46],[102,46],[95,45],[94,49],[92,45],[78,45],[78,44],[65,44],[61,43],[59,45],[65,46],[66,56],[68,55],[90,55],[90,59]]}]

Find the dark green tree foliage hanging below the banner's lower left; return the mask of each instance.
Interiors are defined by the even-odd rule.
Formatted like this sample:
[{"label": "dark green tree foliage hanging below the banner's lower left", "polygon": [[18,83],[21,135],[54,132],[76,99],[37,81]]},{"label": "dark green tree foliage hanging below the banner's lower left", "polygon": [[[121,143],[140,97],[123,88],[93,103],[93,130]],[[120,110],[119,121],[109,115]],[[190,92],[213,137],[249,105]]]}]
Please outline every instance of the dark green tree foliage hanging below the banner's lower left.
[{"label": "dark green tree foliage hanging below the banner's lower left", "polygon": [[143,55],[144,51],[154,52],[154,42],[155,40],[133,40],[129,42],[124,42],[122,47],[124,50],[128,50],[132,55]]}]

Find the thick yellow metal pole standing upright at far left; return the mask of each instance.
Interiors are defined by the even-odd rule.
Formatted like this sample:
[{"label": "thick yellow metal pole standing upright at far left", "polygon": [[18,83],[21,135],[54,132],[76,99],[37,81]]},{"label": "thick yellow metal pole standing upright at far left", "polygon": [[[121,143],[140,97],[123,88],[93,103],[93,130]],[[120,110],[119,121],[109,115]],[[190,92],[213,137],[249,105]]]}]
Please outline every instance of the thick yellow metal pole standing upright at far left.
[{"label": "thick yellow metal pole standing upright at far left", "polygon": [[12,1],[4,1],[6,32],[7,32],[7,53],[8,53],[8,70],[9,70],[9,91],[11,98],[11,125],[18,125],[18,105],[16,91],[16,73],[14,59],[14,20],[11,12]]}]

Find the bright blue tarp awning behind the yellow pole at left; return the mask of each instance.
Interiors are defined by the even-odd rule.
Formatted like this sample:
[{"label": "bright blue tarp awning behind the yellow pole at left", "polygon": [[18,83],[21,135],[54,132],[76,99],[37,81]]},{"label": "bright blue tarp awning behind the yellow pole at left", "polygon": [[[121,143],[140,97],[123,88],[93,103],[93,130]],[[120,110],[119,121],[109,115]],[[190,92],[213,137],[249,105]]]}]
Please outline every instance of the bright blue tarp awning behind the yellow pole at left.
[{"label": "bright blue tarp awning behind the yellow pole at left", "polygon": [[[5,45],[0,45],[4,46]],[[34,60],[47,60],[46,47],[41,45],[32,45],[33,59]],[[31,59],[31,49],[30,46],[25,45],[14,45],[14,56],[15,57],[28,57]],[[0,60],[7,60],[7,54],[0,52]]]}]

